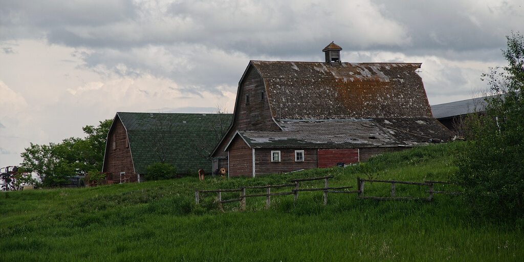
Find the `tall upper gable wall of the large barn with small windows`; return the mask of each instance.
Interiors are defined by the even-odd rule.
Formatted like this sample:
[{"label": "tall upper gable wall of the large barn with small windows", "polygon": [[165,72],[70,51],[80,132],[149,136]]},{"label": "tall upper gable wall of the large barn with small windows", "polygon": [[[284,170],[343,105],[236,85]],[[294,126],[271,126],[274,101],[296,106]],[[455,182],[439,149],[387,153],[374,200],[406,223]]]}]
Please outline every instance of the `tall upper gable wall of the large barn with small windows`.
[{"label": "tall upper gable wall of the large barn with small windows", "polygon": [[[224,148],[236,130],[280,130],[271,117],[264,80],[256,69],[250,67],[238,92],[237,97],[240,102],[235,108],[236,119],[233,119],[233,127],[226,134],[213,157],[227,157]],[[260,100],[261,92],[264,92],[264,101]],[[246,105],[246,94],[249,94],[248,105]]]}]

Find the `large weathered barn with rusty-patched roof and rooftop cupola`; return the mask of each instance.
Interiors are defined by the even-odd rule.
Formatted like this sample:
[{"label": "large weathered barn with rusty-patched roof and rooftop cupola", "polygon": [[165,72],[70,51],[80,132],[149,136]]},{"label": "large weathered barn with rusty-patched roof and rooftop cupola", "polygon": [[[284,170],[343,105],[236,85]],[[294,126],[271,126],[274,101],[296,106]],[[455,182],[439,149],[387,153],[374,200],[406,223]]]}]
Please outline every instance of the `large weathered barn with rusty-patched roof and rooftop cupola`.
[{"label": "large weathered barn with rusty-patched roof and rooftop cupola", "polygon": [[420,63],[250,61],[233,121],[212,153],[230,176],[282,173],[363,161],[449,140],[432,116]]}]

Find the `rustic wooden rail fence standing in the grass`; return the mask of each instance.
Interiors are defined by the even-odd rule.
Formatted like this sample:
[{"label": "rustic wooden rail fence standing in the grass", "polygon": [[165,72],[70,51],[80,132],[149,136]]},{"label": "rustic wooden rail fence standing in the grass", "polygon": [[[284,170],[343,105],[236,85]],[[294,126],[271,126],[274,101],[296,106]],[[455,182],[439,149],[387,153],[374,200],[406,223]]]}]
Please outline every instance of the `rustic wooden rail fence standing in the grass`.
[{"label": "rustic wooden rail fence standing in the grass", "polygon": [[[195,190],[195,201],[197,204],[200,203],[201,193],[217,193],[218,201],[220,208],[223,210],[222,204],[225,203],[231,203],[231,202],[240,202],[240,208],[245,209],[246,208],[246,198],[255,198],[260,196],[266,197],[266,208],[269,208],[271,204],[271,196],[273,195],[294,195],[294,201],[296,202],[298,200],[298,192],[303,191],[324,191],[324,205],[328,204],[328,193],[345,193],[345,194],[352,194],[357,193],[358,198],[360,199],[375,199],[375,200],[426,200],[426,201],[433,201],[433,194],[460,194],[460,192],[447,192],[447,191],[435,191],[433,189],[433,185],[435,183],[441,183],[441,184],[450,184],[450,182],[446,181],[424,181],[424,182],[408,182],[408,181],[397,181],[397,180],[372,180],[372,179],[361,179],[357,177],[357,190],[356,191],[347,191],[343,189],[350,189],[353,188],[352,186],[348,187],[329,187],[329,179],[333,178],[334,176],[325,176],[325,177],[316,177],[316,178],[299,178],[299,179],[292,179],[289,180],[291,182],[290,184],[277,184],[277,185],[261,185],[258,187],[241,187],[237,189],[217,189],[217,190]],[[306,182],[306,181],[315,181],[315,180],[324,180],[324,187],[323,188],[299,188],[300,182]],[[383,182],[383,183],[391,183],[391,196],[390,197],[381,197],[381,196],[364,196],[364,182]],[[411,184],[411,185],[423,185],[428,186],[429,190],[425,191],[426,193],[429,193],[428,198],[407,198],[407,197],[398,197],[395,196],[395,190],[396,190],[396,184]],[[286,188],[286,187],[293,187],[291,189],[291,192],[275,192],[271,193],[271,188]],[[266,189],[265,194],[246,194],[246,189]],[[223,192],[241,192],[239,198],[236,199],[229,199],[229,200],[222,200],[222,193]]]}]

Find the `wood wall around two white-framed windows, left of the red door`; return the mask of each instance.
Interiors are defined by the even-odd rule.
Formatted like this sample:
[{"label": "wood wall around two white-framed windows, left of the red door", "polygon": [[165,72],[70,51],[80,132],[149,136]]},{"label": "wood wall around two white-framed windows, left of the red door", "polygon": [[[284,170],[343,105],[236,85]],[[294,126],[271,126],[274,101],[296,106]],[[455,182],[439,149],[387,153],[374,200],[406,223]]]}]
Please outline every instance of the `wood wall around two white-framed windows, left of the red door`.
[{"label": "wood wall around two white-framed windows, left of the red door", "polygon": [[[271,162],[271,151],[280,150],[280,162]],[[295,162],[294,151],[304,150],[304,161]],[[230,153],[231,154],[231,153]],[[316,168],[316,149],[255,149],[255,176]]]}]

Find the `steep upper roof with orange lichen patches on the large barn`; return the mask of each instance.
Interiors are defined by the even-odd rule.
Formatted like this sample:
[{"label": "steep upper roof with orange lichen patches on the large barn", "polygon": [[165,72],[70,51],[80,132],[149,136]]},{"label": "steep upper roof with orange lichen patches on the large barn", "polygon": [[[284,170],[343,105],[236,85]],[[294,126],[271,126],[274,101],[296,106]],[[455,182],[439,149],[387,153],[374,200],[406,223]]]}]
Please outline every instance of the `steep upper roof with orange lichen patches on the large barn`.
[{"label": "steep upper roof with orange lichen patches on the large barn", "polygon": [[420,63],[251,61],[280,119],[432,117]]}]

